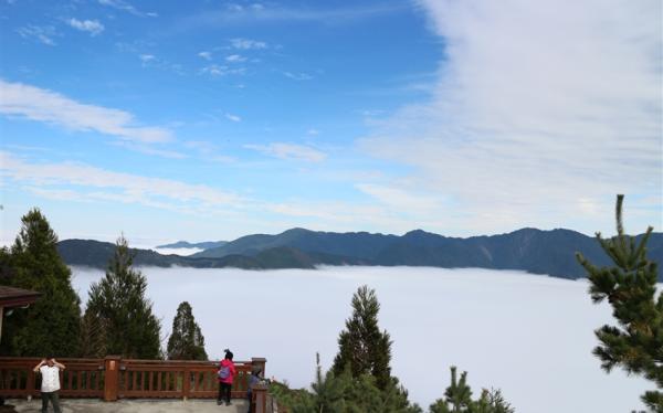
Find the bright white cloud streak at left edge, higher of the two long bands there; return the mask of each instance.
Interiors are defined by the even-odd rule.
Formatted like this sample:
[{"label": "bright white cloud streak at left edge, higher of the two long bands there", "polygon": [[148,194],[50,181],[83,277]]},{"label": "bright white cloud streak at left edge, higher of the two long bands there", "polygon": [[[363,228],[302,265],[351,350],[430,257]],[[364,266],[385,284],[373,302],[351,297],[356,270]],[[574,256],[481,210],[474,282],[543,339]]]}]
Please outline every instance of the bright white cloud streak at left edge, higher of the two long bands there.
[{"label": "bright white cloud streak at left edge, higher of the two long bands there", "polygon": [[97,131],[143,144],[172,140],[170,130],[136,126],[127,112],[82,104],[59,93],[0,80],[0,114],[63,126],[77,131]]}]

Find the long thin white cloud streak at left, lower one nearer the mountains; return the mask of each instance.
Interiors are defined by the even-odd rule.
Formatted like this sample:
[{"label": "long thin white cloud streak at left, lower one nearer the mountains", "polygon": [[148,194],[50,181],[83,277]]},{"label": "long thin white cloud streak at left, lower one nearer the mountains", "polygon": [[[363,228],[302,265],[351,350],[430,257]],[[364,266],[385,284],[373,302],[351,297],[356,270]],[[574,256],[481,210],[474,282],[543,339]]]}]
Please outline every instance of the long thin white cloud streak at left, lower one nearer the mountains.
[{"label": "long thin white cloud streak at left, lower one nearer the mountains", "polygon": [[115,172],[82,163],[31,163],[4,151],[0,151],[0,171],[4,177],[31,186],[34,193],[50,193],[59,199],[70,197],[203,211],[240,208],[242,203],[239,195],[204,184]]}]

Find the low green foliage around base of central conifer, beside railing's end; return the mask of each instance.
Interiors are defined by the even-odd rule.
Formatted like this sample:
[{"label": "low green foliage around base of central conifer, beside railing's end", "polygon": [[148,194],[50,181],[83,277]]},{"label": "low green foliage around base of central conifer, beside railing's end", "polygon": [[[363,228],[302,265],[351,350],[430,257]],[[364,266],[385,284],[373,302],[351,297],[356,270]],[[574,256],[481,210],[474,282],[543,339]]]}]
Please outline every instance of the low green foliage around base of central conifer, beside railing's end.
[{"label": "low green foliage around base of central conifer, beside railing's end", "polygon": [[417,404],[408,402],[407,392],[396,381],[392,384],[382,390],[375,377],[354,378],[349,368],[340,374],[332,370],[325,374],[318,358],[312,391],[291,390],[280,383],[272,383],[270,391],[292,413],[420,413]]}]

